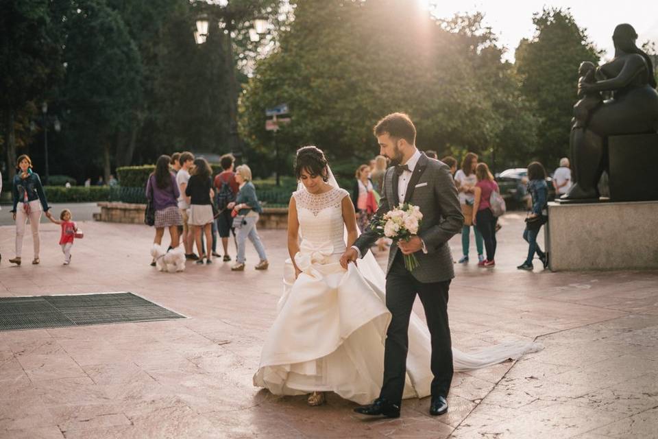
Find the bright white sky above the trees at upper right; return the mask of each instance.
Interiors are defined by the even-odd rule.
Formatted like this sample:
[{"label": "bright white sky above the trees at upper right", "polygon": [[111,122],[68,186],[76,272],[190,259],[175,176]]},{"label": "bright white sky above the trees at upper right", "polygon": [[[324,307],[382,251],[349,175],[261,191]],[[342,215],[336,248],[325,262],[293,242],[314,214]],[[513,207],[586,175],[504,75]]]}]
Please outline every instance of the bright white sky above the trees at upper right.
[{"label": "bright white sky above the trees at upper right", "polygon": [[[413,1],[413,0],[410,0]],[[513,60],[514,50],[521,38],[535,33],[533,13],[544,6],[571,8],[578,26],[587,29],[589,40],[598,49],[605,49],[604,58],[614,55],[612,32],[620,23],[635,27],[640,46],[646,40],[658,44],[658,0],[415,0],[434,3],[437,15],[452,16],[455,12],[485,14],[485,25],[491,26],[508,49],[506,59]]]}]

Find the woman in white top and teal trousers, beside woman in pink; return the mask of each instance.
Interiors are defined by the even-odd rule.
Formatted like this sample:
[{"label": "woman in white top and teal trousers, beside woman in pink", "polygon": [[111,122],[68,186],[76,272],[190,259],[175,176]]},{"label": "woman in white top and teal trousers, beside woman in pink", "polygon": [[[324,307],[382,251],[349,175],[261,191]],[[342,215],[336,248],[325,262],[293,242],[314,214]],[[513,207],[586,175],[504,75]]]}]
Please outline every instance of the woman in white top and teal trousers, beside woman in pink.
[{"label": "woman in white top and teal trousers, beside woman in pink", "polygon": [[485,258],[483,255],[483,239],[480,230],[473,224],[473,217],[477,211],[474,211],[475,202],[475,185],[478,178],[475,176],[475,169],[478,165],[478,156],[473,152],[467,153],[461,161],[461,169],[454,174],[454,184],[459,192],[459,203],[461,211],[464,214],[464,225],[461,228],[461,251],[463,256],[459,263],[468,262],[468,252],[471,245],[470,234],[471,226],[475,234],[475,246],[478,250],[478,263],[482,263]]}]

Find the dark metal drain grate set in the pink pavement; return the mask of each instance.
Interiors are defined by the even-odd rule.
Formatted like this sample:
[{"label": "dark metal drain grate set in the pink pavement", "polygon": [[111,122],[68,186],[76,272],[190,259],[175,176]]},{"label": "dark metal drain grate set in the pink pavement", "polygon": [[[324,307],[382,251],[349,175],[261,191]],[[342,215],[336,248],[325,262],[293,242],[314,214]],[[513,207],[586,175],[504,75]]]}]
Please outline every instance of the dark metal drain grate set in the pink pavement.
[{"label": "dark metal drain grate set in the pink pavement", "polygon": [[0,331],[185,318],[132,293],[0,297]]}]

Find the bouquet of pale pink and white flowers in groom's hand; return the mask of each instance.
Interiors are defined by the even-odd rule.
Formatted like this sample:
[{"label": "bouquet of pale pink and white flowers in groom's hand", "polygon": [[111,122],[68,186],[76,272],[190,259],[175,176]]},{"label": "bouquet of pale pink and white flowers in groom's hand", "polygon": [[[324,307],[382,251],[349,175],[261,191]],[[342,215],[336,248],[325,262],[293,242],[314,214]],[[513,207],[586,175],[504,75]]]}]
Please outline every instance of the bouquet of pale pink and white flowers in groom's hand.
[{"label": "bouquet of pale pink and white flowers in groom's hand", "polygon": [[[374,217],[370,228],[379,237],[391,238],[394,243],[409,241],[412,235],[417,235],[422,219],[423,214],[418,206],[400,203],[382,217]],[[404,254],[404,266],[411,272],[418,266],[418,259],[414,254]]]}]

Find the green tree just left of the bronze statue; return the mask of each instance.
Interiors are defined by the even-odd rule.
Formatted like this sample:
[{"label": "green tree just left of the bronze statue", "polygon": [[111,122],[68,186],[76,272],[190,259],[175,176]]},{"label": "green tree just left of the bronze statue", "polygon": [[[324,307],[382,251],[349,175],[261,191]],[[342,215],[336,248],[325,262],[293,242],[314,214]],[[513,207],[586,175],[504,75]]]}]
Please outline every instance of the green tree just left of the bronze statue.
[{"label": "green tree just left of the bronze statue", "polygon": [[568,154],[578,65],[598,62],[599,52],[568,9],[544,9],[533,16],[533,23],[535,37],[521,41],[515,67],[521,77],[521,93],[539,119],[537,143],[528,151],[528,159],[550,168]]}]

